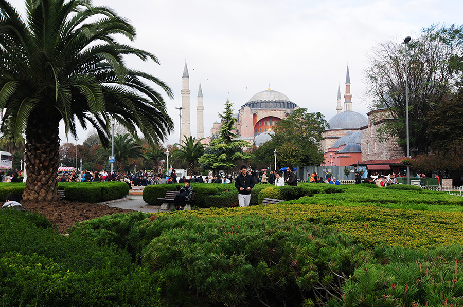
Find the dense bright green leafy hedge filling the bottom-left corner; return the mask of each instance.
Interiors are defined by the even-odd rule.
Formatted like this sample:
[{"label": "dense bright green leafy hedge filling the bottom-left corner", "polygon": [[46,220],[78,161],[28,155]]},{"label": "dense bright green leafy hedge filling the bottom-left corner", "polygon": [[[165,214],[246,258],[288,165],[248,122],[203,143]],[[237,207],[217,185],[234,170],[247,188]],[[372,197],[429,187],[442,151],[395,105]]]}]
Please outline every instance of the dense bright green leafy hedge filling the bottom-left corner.
[{"label": "dense bright green leafy hedge filling the bottom-left corner", "polygon": [[0,210],[0,305],[162,305],[158,280],[127,251],[37,227],[33,215]]}]

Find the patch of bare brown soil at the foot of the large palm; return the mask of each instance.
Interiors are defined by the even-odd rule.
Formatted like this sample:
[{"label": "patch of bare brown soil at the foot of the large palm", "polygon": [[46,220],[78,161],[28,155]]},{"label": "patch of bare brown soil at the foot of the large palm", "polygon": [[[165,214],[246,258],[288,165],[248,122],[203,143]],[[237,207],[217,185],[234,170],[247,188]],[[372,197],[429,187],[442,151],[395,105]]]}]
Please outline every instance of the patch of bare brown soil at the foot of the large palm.
[{"label": "patch of bare brown soil at the foot of the large palm", "polygon": [[129,209],[65,200],[47,203],[22,201],[21,204],[30,212],[37,210],[39,213],[44,214],[52,224],[58,226],[58,231],[62,234],[67,233],[67,229],[76,224],[76,222],[91,220],[114,213],[133,212],[133,210]]}]

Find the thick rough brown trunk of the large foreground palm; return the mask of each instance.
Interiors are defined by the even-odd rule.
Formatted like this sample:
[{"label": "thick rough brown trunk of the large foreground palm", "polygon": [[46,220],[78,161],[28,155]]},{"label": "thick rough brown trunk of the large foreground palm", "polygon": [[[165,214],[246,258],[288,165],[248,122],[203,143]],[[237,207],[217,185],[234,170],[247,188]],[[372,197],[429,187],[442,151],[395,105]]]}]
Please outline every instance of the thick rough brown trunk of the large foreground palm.
[{"label": "thick rough brown trunk of the large foreground palm", "polygon": [[58,201],[59,119],[42,112],[30,114],[26,128],[26,188],[23,199]]}]

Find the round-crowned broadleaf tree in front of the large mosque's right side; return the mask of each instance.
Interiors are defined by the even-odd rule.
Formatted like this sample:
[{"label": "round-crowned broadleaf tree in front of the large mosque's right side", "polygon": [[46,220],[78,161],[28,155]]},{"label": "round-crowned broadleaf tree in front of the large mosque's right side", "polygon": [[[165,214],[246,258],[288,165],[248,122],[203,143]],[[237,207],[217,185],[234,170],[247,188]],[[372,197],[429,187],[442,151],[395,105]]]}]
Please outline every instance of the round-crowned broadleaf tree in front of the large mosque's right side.
[{"label": "round-crowned broadleaf tree in front of the large mosque's right side", "polygon": [[303,108],[294,110],[288,118],[279,121],[271,141],[277,150],[278,164],[302,166],[323,163],[324,154],[319,142],[328,126],[322,113],[309,113]]}]

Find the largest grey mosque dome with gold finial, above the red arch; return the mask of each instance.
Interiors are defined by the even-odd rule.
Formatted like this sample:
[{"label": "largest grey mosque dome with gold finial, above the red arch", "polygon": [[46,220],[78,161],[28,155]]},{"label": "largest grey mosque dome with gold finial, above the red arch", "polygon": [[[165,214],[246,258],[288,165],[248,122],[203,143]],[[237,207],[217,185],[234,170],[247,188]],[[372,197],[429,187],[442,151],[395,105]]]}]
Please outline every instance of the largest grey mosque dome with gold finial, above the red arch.
[{"label": "largest grey mosque dome with gold finial, above the red arch", "polygon": [[248,102],[241,106],[241,109],[244,107],[251,109],[294,109],[297,105],[290,101],[287,95],[269,88],[251,97]]}]

